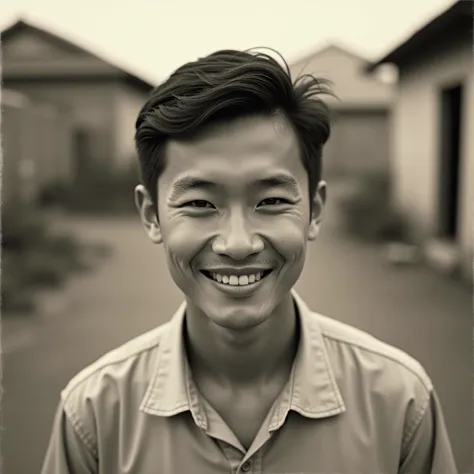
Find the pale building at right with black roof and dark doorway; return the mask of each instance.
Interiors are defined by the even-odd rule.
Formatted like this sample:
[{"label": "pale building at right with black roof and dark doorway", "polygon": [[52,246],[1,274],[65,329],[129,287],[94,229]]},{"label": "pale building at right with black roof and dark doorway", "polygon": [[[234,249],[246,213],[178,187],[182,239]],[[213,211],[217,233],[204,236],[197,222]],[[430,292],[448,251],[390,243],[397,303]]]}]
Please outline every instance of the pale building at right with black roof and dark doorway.
[{"label": "pale building at right with black roof and dark doorway", "polygon": [[[368,71],[392,63],[396,204],[433,263],[473,272],[473,6],[458,1]],[[469,131],[470,130],[470,131]]]}]

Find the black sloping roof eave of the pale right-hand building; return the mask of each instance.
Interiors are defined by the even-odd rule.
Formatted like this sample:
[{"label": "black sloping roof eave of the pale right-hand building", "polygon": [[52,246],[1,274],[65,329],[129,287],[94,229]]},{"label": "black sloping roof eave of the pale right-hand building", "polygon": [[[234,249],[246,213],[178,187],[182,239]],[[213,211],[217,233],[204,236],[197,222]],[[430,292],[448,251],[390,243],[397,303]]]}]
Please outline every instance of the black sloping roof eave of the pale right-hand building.
[{"label": "black sloping roof eave of the pale right-hand building", "polygon": [[450,8],[442,12],[422,28],[412,34],[406,41],[397,46],[383,58],[368,64],[366,72],[373,72],[378,66],[384,63],[393,63],[396,66],[402,65],[413,54],[422,51],[433,40],[444,35],[445,32],[455,27],[466,28],[472,31],[473,24],[473,4],[466,0],[457,0]]}]

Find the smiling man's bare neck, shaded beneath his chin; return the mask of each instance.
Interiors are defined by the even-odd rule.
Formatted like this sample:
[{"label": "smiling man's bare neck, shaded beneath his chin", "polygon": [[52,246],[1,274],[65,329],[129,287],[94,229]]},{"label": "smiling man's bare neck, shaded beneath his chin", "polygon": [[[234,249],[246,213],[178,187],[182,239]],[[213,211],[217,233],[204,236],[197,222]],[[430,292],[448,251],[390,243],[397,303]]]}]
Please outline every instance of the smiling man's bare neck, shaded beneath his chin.
[{"label": "smiling man's bare neck, shaded beneath his chin", "polygon": [[246,331],[217,326],[195,308],[186,310],[186,346],[194,376],[235,388],[287,378],[298,345],[298,318],[291,294],[267,320]]}]

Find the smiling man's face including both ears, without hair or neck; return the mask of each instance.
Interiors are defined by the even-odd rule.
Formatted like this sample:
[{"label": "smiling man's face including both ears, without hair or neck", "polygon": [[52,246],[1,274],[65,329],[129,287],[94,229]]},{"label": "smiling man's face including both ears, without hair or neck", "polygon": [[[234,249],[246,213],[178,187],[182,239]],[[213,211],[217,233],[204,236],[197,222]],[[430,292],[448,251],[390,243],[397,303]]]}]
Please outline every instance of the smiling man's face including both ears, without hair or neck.
[{"label": "smiling man's face including both ears, without hair or neck", "polygon": [[229,329],[267,320],[298,280],[325,199],[310,219],[308,177],[282,118],[245,118],[171,141],[158,180],[158,216],[136,191],[149,237],[163,243],[190,312]]}]

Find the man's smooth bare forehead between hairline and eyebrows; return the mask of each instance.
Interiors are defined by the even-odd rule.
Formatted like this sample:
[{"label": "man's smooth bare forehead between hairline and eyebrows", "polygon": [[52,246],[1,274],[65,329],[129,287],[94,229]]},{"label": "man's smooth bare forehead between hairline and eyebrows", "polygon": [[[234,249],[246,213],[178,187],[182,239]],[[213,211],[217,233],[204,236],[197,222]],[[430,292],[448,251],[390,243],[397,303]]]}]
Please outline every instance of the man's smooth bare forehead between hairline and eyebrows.
[{"label": "man's smooth bare forehead between hairline and eyebrows", "polygon": [[192,140],[170,141],[160,187],[185,175],[239,185],[277,170],[306,179],[297,137],[281,117],[251,117],[212,126]]}]

